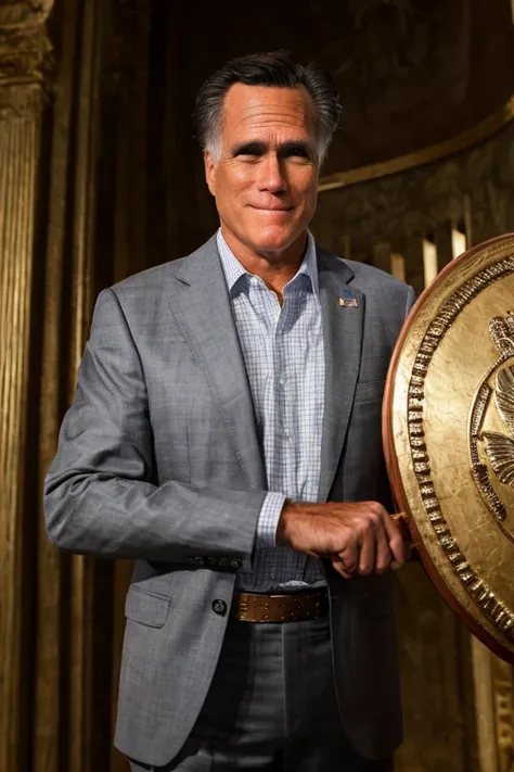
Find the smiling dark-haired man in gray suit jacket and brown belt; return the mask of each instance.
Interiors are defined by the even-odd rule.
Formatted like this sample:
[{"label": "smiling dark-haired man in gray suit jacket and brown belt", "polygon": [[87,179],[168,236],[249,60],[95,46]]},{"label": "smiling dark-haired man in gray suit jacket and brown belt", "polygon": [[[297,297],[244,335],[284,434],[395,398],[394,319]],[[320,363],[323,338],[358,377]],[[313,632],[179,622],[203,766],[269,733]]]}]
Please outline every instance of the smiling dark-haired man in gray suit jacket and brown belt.
[{"label": "smiling dark-haired man in gray suit jacket and brown belt", "polygon": [[413,292],[308,231],[338,115],[284,51],[222,67],[196,105],[220,230],[97,303],[46,512],[62,549],[136,558],[132,770],[393,768],[381,402]]}]

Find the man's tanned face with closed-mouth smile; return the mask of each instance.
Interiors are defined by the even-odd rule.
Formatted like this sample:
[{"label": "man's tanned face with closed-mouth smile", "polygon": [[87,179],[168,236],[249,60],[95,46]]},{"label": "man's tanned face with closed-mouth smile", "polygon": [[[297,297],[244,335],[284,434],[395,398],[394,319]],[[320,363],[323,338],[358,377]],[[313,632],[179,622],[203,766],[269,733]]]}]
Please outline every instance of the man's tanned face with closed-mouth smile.
[{"label": "man's tanned face with closed-mouth smile", "polygon": [[219,160],[207,151],[205,169],[223,231],[246,251],[280,255],[316,210],[319,162],[307,90],[232,86]]}]

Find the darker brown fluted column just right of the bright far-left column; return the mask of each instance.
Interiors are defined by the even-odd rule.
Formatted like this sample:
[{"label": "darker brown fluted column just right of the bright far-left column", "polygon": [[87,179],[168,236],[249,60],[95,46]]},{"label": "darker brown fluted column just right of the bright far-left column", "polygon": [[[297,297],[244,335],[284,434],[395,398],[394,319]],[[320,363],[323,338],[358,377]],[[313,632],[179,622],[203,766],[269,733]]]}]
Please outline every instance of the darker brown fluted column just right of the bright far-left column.
[{"label": "darker brown fluted column just right of the bright far-left column", "polygon": [[[42,357],[39,480],[55,453],[64,410],[73,400],[77,369],[98,292],[97,195],[101,131],[100,74],[108,48],[108,3],[60,0],[59,66],[46,170],[48,208],[44,276],[40,292]],[[107,261],[103,261],[107,263]],[[39,517],[33,716],[34,772],[108,769],[112,566],[63,555],[48,542]],[[104,632],[105,631],[105,632]],[[107,671],[107,672],[106,672]],[[102,699],[103,681],[106,697]]]}]

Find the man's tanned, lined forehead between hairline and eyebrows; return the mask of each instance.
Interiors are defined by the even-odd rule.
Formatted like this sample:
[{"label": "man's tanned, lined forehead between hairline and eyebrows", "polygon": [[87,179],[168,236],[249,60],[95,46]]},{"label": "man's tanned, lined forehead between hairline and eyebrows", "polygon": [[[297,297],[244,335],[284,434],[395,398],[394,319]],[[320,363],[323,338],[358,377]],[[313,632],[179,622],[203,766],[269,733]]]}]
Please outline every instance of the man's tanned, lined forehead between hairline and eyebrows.
[{"label": "man's tanned, lined forehead between hairline and eyebrows", "polygon": [[223,107],[226,139],[269,130],[313,137],[316,131],[312,99],[304,86],[275,88],[234,84]]}]

